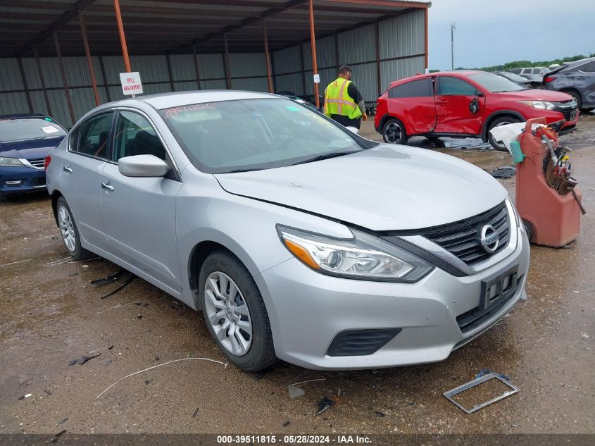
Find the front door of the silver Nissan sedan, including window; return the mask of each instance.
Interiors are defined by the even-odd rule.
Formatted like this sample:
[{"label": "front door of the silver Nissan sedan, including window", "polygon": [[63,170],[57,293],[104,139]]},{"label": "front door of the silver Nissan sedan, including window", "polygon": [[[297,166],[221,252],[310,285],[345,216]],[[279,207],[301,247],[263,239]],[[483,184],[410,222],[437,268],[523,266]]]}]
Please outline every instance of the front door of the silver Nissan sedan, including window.
[{"label": "front door of the silver Nissan sedan, including window", "polygon": [[[120,111],[113,138],[113,161],[150,154],[167,160],[165,148],[149,120]],[[182,182],[165,178],[131,178],[106,164],[101,171],[101,213],[110,251],[175,292],[182,290],[175,237],[175,201]]]}]

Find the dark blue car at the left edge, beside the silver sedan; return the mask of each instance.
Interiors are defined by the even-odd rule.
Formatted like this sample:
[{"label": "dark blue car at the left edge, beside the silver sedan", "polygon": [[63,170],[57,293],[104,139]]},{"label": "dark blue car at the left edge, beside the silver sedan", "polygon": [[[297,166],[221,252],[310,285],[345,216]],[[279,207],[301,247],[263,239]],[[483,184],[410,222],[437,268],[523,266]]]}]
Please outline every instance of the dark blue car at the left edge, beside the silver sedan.
[{"label": "dark blue car at the left edge, beside the silver sedan", "polygon": [[44,158],[66,131],[39,113],[0,115],[0,202],[46,187]]}]

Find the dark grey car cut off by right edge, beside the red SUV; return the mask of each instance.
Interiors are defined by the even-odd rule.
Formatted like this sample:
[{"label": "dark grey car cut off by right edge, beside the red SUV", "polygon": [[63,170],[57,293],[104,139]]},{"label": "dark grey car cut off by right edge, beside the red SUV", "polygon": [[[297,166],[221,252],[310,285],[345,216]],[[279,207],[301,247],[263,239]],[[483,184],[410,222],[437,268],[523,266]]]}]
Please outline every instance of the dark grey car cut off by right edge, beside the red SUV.
[{"label": "dark grey car cut off by right edge, beside the red SUV", "polygon": [[582,111],[595,110],[595,57],[565,63],[544,78],[545,89],[570,94]]}]

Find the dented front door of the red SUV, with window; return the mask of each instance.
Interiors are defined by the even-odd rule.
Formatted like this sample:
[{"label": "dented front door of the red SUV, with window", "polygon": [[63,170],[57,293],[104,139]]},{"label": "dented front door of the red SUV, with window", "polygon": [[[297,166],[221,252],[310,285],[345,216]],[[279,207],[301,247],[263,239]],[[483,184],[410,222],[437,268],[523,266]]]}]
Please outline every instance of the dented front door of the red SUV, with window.
[{"label": "dented front door of the red SUV, with window", "polygon": [[485,96],[474,85],[454,76],[437,76],[436,132],[479,135]]}]

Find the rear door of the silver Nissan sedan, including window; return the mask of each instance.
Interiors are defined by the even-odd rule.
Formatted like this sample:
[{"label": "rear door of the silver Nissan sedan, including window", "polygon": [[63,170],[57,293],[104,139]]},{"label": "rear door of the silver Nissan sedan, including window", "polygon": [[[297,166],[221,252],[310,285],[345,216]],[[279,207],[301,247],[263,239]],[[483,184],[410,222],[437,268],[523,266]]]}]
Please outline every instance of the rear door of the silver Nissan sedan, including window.
[{"label": "rear door of the silver Nissan sedan, including window", "polygon": [[80,236],[101,249],[106,249],[107,237],[101,225],[99,174],[110,157],[113,116],[113,111],[98,113],[73,130],[60,167],[60,190],[73,212]]}]

